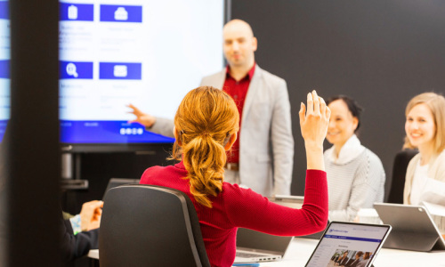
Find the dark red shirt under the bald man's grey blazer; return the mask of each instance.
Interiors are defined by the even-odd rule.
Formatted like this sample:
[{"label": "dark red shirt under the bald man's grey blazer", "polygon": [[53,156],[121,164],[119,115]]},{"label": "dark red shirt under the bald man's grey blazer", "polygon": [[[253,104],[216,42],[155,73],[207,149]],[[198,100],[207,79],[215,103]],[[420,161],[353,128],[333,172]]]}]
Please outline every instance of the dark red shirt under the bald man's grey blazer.
[{"label": "dark red shirt under the bald man's grey blazer", "polygon": [[[230,67],[227,66],[226,77],[223,85],[223,91],[229,93],[231,98],[237,104],[239,111],[239,128],[241,127],[241,117],[243,115],[244,101],[246,101],[247,90],[250,85],[252,77],[255,73],[255,65],[249,70],[246,77],[241,78],[239,81],[231,77]],[[241,131],[238,133],[238,139],[231,147],[231,150],[227,153],[227,162],[239,163],[239,137],[241,136]]]}]

